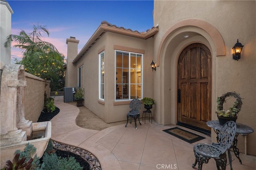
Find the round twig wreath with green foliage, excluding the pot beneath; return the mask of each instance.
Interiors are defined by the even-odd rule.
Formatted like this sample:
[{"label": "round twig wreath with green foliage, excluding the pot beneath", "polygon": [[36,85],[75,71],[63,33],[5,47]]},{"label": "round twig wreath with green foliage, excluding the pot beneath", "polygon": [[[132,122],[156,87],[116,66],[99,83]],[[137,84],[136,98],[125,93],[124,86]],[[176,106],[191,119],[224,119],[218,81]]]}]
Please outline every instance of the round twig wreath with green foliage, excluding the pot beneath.
[{"label": "round twig wreath with green foliage, excluding the pot beneath", "polygon": [[[229,108],[229,110],[223,109],[223,104],[226,102],[226,98],[233,96],[236,98],[236,102],[234,102],[233,106]],[[217,98],[217,111],[216,113],[218,116],[224,116],[224,117],[237,117],[238,112],[241,110],[242,107],[242,98],[240,95],[236,92],[228,92],[226,94],[223,94],[222,96]]]}]

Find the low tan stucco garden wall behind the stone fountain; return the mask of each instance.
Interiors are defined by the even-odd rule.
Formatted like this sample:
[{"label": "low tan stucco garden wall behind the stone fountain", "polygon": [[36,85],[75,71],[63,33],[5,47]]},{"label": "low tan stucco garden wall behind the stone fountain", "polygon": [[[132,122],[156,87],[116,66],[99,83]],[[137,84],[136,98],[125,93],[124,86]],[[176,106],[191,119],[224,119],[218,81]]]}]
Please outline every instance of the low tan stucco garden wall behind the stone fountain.
[{"label": "low tan stucco garden wall behind the stone fountain", "polygon": [[24,113],[25,119],[37,122],[44,108],[44,92],[50,97],[50,82],[42,78],[25,73],[27,86],[25,87]]}]

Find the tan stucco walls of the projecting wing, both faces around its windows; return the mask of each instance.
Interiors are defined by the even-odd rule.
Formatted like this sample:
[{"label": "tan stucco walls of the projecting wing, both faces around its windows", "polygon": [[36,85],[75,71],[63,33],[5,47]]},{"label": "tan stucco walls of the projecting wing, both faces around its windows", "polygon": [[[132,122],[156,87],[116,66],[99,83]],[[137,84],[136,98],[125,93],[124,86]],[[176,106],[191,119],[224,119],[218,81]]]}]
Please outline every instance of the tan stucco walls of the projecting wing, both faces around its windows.
[{"label": "tan stucco walls of the projecting wing, both faces around its windows", "polygon": [[[118,35],[106,32],[104,35],[86,52],[84,57],[76,63],[76,75],[78,67],[84,64],[84,106],[90,109],[107,123],[126,120],[127,112],[130,110],[130,101],[115,102],[115,50],[114,45],[124,48],[144,50],[144,80],[147,88],[144,88],[143,95],[152,97],[153,74],[150,68],[153,54],[153,39],[147,40]],[[104,102],[98,102],[98,53],[104,49]],[[78,82],[78,76],[76,76]],[[143,108],[144,109],[144,108]],[[141,111],[143,110],[141,109]]]}]

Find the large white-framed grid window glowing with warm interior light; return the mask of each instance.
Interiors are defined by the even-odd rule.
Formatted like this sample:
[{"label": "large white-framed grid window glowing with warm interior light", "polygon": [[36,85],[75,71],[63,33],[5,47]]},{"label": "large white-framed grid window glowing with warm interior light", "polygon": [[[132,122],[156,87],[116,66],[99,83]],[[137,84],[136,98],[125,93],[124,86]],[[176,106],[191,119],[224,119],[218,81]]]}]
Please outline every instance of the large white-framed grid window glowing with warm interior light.
[{"label": "large white-framed grid window glowing with warm interior light", "polygon": [[142,59],[140,53],[115,50],[116,101],[142,98]]}]

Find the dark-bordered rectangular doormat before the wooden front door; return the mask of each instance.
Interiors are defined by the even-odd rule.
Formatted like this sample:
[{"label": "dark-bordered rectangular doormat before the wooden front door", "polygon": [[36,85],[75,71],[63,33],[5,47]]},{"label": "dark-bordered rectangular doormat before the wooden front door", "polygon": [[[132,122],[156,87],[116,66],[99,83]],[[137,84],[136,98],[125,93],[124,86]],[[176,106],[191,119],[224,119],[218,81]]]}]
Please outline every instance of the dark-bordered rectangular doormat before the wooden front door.
[{"label": "dark-bordered rectangular doormat before the wooden front door", "polygon": [[205,137],[202,137],[200,135],[196,135],[192,132],[186,131],[184,129],[180,129],[178,127],[174,127],[171,129],[163,130],[166,133],[169,133],[170,135],[173,135],[179,139],[182,139],[183,141],[186,141],[188,143],[194,143],[196,141],[200,141],[202,139],[205,139]]}]

